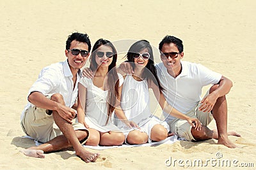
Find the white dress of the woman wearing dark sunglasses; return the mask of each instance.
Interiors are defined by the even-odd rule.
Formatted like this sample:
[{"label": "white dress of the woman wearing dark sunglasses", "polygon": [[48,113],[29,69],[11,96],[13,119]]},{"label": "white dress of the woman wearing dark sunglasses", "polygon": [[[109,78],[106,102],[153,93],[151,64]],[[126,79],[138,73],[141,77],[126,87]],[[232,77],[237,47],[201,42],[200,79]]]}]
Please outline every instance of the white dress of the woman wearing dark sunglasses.
[{"label": "white dress of the woman wearing dark sunglasses", "polygon": [[[119,75],[118,75],[119,76]],[[120,83],[122,85],[123,78],[119,76]],[[86,108],[84,113],[86,113],[84,121],[89,125],[90,128],[96,129],[100,132],[109,131],[120,131],[116,125],[113,124],[114,113],[108,120],[108,90],[104,91],[99,87],[93,85],[93,80],[90,78],[82,78],[79,83],[86,87]]]}]

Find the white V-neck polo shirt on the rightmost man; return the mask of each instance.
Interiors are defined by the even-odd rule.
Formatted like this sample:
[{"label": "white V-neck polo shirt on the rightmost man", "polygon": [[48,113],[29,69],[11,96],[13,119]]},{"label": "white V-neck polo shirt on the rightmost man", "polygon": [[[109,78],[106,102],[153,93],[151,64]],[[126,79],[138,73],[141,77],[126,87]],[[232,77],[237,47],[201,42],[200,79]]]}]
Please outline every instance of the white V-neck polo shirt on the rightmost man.
[{"label": "white V-neck polo shirt on the rightmost man", "polygon": [[[221,74],[201,64],[181,61],[182,71],[176,78],[170,76],[163,62],[156,65],[157,76],[163,86],[163,94],[170,106],[181,113],[187,113],[201,101],[202,87],[216,84]],[[167,121],[174,117],[163,112]]]}]

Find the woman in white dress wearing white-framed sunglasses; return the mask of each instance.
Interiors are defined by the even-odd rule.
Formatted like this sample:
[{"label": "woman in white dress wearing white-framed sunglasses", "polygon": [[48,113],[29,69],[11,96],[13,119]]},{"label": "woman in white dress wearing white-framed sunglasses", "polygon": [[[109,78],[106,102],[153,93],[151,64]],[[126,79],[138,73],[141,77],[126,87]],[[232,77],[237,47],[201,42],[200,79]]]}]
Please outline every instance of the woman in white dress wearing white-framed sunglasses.
[{"label": "woman in white dress wearing white-framed sunglasses", "polygon": [[157,78],[152,47],[148,41],[141,40],[134,43],[127,53],[127,59],[131,62],[134,74],[125,75],[124,83],[120,87],[122,89],[121,108],[125,114],[122,117],[135,122],[139,127],[127,128],[124,122],[117,121],[117,126],[124,132],[127,143],[131,145],[150,143],[168,137],[169,125],[150,112],[148,89],[153,90],[157,101],[166,113],[188,120],[189,124],[200,129],[201,124],[198,119],[190,118],[167,104],[161,92],[163,88]]}]

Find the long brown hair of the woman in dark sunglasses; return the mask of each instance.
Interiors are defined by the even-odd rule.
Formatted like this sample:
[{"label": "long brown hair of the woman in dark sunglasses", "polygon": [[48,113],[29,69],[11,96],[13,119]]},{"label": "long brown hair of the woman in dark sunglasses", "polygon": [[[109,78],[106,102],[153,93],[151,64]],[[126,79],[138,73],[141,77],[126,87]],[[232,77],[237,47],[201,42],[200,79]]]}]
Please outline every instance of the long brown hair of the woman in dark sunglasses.
[{"label": "long brown hair of the woman in dark sunglasses", "polygon": [[118,96],[119,80],[116,71],[117,53],[115,46],[110,41],[102,38],[98,39],[93,45],[92,55],[90,57],[90,69],[92,69],[92,71],[96,71],[99,67],[95,60],[95,57],[97,49],[102,45],[111,47],[114,53],[113,60],[111,64],[108,66],[108,119],[106,120],[106,124],[108,124],[109,117],[111,117],[113,111],[115,110],[116,96]]}]

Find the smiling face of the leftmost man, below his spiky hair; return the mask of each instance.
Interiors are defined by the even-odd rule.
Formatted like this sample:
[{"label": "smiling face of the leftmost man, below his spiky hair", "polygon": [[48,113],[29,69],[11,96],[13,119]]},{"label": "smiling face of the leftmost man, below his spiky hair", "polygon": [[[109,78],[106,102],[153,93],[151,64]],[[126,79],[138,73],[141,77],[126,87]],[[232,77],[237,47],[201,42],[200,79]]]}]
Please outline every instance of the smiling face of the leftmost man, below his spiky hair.
[{"label": "smiling face of the leftmost man, below his spiky hair", "polygon": [[89,55],[87,55],[86,57],[82,57],[81,53],[79,53],[78,55],[73,55],[71,52],[72,49],[88,51],[88,45],[87,43],[82,43],[74,40],[70,43],[70,50],[65,50],[65,55],[68,57],[68,65],[70,67],[70,70],[72,71],[72,73],[76,73],[78,69],[81,69],[81,67],[84,66]]}]

